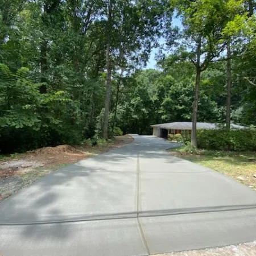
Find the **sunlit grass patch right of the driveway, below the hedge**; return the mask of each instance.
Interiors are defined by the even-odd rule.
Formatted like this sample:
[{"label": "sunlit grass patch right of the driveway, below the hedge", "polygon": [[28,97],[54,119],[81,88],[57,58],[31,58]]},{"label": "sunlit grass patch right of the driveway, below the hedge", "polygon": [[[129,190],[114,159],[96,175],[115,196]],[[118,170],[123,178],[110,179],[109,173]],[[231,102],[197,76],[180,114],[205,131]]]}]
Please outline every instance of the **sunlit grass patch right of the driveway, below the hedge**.
[{"label": "sunlit grass patch right of the driveway, below the hedge", "polygon": [[221,172],[256,190],[255,152],[229,152],[193,150],[183,146],[170,151],[171,154]]}]

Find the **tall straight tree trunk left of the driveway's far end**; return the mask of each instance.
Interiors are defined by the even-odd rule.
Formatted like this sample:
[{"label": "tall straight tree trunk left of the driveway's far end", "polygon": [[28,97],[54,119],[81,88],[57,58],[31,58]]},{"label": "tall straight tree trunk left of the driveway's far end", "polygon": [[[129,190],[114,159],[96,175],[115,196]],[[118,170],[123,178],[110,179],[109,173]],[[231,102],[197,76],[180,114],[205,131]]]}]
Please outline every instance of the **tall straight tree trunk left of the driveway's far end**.
[{"label": "tall straight tree trunk left of the driveway's far end", "polygon": [[104,124],[103,124],[103,138],[108,138],[108,126],[109,126],[109,106],[111,100],[111,89],[112,89],[112,65],[110,63],[110,44],[111,44],[111,32],[112,32],[112,0],[109,0],[108,7],[108,41],[106,48],[106,97],[105,97],[105,112],[104,112]]}]

